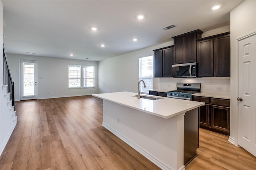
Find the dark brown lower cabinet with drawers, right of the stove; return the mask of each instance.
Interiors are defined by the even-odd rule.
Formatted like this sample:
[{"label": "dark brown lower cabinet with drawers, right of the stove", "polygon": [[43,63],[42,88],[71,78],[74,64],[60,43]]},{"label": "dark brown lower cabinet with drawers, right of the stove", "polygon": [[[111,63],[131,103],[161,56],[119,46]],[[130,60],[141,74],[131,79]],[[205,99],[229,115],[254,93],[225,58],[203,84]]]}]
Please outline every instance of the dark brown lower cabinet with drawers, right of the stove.
[{"label": "dark brown lower cabinet with drawers, right of the stove", "polygon": [[200,128],[229,135],[230,100],[193,96],[193,101],[206,103],[199,107]]}]

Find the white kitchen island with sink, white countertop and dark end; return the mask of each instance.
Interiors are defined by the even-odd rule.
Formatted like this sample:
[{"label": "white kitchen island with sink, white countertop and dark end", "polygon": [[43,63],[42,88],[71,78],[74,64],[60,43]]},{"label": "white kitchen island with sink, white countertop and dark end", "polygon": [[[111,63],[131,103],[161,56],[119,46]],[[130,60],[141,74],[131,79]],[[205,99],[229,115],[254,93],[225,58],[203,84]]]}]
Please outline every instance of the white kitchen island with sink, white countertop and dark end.
[{"label": "white kitchen island with sink, white countertop and dark end", "polygon": [[156,96],[152,97],[159,99],[137,99],[135,95],[93,95],[103,99],[102,126],[160,168],[184,169],[184,159],[195,157],[184,149],[198,147],[198,107],[204,103]]}]

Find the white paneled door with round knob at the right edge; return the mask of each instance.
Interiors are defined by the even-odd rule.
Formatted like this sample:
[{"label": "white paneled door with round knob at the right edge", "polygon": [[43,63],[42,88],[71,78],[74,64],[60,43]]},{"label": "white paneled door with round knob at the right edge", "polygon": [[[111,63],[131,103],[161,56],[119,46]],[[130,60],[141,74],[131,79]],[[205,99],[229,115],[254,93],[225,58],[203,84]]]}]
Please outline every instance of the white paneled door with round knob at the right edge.
[{"label": "white paneled door with round knob at the right edge", "polygon": [[238,144],[256,156],[256,34],[238,40]]}]

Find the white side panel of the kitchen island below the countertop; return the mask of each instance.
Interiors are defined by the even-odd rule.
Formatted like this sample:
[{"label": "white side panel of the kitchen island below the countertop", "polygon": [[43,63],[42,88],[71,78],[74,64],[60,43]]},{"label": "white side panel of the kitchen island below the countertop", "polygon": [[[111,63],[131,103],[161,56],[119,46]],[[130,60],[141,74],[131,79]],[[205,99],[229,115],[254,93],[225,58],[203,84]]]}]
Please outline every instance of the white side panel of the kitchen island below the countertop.
[{"label": "white side panel of the kitchen island below the countertop", "polygon": [[102,125],[160,168],[184,168],[184,115],[164,119],[103,100]]}]

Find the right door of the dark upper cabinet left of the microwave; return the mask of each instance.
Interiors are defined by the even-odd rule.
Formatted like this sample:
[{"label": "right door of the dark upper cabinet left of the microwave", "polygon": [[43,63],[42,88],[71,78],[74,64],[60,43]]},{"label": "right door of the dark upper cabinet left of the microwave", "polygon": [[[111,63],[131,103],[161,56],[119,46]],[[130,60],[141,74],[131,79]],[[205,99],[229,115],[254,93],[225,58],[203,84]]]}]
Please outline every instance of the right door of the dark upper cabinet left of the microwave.
[{"label": "right door of the dark upper cabinet left of the microwave", "polygon": [[163,77],[172,77],[173,48],[163,49]]}]

